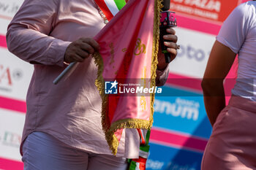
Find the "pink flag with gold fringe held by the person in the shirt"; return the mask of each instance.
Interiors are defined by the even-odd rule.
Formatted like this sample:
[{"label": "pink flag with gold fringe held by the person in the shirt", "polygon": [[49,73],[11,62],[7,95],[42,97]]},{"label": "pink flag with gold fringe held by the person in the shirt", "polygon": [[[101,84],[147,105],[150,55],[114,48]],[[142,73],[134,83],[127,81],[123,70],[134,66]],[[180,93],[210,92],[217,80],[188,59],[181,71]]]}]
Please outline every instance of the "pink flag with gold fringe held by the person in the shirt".
[{"label": "pink flag with gold fringe held by the person in the shirt", "polygon": [[114,155],[123,128],[149,129],[153,122],[160,6],[159,0],[129,0],[94,37],[102,127]]}]

